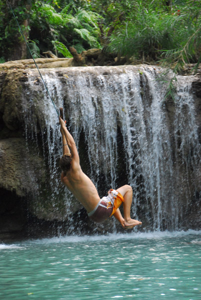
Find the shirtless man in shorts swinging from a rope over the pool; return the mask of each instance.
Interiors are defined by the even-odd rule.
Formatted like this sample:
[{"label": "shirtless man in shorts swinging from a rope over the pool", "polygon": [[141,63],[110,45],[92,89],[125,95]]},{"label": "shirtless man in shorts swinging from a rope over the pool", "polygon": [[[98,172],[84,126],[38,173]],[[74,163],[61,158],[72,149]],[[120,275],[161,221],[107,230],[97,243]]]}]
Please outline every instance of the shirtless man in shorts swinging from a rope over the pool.
[{"label": "shirtless man in shorts swinging from a rope over the pool", "polygon": [[[65,126],[66,121],[64,122],[59,117],[59,123],[63,149],[59,163],[62,170],[61,181],[85,207],[88,216],[95,222],[103,222],[109,216],[114,215],[124,229],[131,229],[141,224],[140,221],[130,217],[131,186],[126,184],[116,190],[110,189],[108,195],[100,199],[95,185],[81,170],[76,145]],[[118,208],[121,203],[123,203],[124,218]]]}]

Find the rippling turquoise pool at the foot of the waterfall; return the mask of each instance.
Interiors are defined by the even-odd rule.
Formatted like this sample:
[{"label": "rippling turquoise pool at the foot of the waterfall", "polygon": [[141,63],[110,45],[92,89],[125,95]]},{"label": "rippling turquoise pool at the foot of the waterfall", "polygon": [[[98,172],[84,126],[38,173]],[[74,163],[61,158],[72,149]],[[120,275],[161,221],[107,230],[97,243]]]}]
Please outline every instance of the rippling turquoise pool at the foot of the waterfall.
[{"label": "rippling turquoise pool at the foot of the waterfall", "polygon": [[201,299],[201,231],[0,244],[0,299]]}]

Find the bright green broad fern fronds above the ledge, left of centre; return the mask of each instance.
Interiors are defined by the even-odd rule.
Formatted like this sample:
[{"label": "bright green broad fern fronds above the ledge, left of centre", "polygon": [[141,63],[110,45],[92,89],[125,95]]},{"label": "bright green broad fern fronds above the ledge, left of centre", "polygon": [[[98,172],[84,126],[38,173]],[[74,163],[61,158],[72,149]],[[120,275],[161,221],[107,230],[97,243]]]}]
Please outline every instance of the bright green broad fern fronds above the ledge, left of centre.
[{"label": "bright green broad fern fronds above the ledge, left of centre", "polygon": [[[60,7],[59,4],[57,2],[57,10]],[[39,39],[42,39],[42,35],[45,34],[43,48],[53,50],[53,45],[56,49],[59,47],[59,50],[57,49],[59,53],[69,56],[61,44],[74,46],[76,40],[76,47],[79,50],[100,47],[97,25],[100,16],[97,13],[86,11],[80,7],[77,8],[74,4],[72,5],[72,1],[60,12],[53,5],[41,1],[35,1],[32,9],[31,34],[36,37],[34,32],[38,32]],[[40,44],[42,43],[40,42]]]}]

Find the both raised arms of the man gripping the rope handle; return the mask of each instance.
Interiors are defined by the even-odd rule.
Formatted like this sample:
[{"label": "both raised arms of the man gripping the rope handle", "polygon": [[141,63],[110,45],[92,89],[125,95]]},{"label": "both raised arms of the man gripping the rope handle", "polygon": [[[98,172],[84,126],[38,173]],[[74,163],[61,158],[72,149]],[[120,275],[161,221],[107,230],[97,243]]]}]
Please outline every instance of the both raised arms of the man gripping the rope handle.
[{"label": "both raised arms of the man gripping the rope handle", "polygon": [[[65,143],[67,143],[67,145],[65,145],[67,147],[64,148],[64,150],[68,149],[69,153],[71,153],[71,155],[72,155],[72,159],[74,159],[76,162],[79,163],[79,155],[77,152],[77,148],[76,148],[74,139],[73,139],[72,135],[70,134],[70,132],[67,130],[67,128],[65,126],[65,122],[62,120],[62,118],[60,116],[59,116],[59,123],[60,123],[60,128],[62,130],[62,132],[61,132],[62,142],[64,145],[65,145]],[[68,153],[68,152],[65,152],[65,153]]]}]

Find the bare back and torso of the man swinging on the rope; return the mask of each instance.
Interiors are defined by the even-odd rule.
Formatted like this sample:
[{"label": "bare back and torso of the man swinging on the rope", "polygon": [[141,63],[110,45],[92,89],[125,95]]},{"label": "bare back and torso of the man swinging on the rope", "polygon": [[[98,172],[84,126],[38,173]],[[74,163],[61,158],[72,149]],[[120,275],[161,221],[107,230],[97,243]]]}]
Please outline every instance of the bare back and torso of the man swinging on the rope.
[{"label": "bare back and torso of the man swinging on the rope", "polygon": [[81,167],[70,170],[64,175],[61,173],[61,181],[69,191],[86,208],[87,212],[92,211],[100,200],[97,189],[93,182],[83,173]]}]

